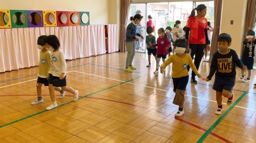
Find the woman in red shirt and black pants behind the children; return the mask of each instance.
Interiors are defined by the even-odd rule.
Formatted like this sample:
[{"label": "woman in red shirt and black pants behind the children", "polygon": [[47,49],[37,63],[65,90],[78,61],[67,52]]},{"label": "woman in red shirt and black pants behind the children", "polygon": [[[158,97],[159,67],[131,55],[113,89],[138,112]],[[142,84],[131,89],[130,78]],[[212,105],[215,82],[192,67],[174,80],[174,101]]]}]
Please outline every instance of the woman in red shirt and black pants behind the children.
[{"label": "woman in red shirt and black pants behind the children", "polygon": [[[197,15],[195,16],[195,10],[197,10]],[[198,5],[197,8],[191,11],[190,16],[187,19],[186,25],[186,36],[188,40],[187,50],[189,51],[191,58],[195,61],[194,64],[199,69],[202,57],[204,55],[204,50],[210,49],[209,40],[207,36],[207,19],[204,17],[206,15],[206,6]],[[187,67],[189,71],[190,67]],[[192,71],[191,82],[197,83],[196,74]]]}]

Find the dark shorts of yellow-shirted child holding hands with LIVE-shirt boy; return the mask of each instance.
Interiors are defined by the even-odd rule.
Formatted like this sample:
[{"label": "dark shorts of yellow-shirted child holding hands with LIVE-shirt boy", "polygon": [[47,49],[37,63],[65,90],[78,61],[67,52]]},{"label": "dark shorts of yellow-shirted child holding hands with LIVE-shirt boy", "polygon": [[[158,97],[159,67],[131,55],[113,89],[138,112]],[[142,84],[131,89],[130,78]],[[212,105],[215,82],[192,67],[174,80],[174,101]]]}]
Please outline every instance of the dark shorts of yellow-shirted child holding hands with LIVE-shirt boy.
[{"label": "dark shorts of yellow-shirted child holding hands with LIVE-shirt boy", "polygon": [[187,87],[187,82],[188,82],[188,75],[180,78],[173,77],[173,82],[174,82],[174,91],[176,91],[177,89],[185,91]]}]

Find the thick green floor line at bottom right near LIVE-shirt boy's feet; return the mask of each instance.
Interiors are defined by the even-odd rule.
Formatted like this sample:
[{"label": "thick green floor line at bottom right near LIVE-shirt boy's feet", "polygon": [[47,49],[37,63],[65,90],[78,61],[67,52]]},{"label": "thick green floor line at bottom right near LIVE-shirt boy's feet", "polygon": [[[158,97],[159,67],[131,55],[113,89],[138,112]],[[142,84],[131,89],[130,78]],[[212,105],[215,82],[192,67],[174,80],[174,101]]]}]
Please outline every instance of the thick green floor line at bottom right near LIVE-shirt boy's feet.
[{"label": "thick green floor line at bottom right near LIVE-shirt boy's feet", "polygon": [[234,102],[224,113],[223,115],[199,138],[199,140],[197,141],[197,143],[201,143],[203,142],[203,140],[210,134],[210,132],[212,130],[214,130],[214,128],[216,128],[216,126],[227,116],[227,114],[234,108],[234,106],[236,106],[238,104],[238,102],[241,101],[242,98],[244,98],[244,96],[247,94],[248,92],[244,92],[238,99],[236,102]]}]

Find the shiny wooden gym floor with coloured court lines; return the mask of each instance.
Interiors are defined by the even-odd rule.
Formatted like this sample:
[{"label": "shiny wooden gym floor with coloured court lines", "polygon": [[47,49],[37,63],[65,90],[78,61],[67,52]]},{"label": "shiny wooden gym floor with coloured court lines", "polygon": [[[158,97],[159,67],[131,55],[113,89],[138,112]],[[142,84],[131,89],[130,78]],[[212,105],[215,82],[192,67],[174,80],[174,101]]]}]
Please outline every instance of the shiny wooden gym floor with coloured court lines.
[{"label": "shiny wooden gym floor with coloured court lines", "polygon": [[[0,73],[0,142],[256,142],[255,71],[250,82],[236,82],[231,106],[223,98],[220,116],[214,79],[189,82],[185,114],[175,118],[172,65],[154,75],[155,60],[146,68],[147,54],[136,53],[137,70],[128,73],[125,58],[116,52],[67,61],[67,84],[80,98],[73,102],[68,93],[58,99],[56,92],[58,107],[49,111],[48,87],[43,103],[30,104],[37,99],[38,67]],[[199,72],[208,75],[207,62]]]}]

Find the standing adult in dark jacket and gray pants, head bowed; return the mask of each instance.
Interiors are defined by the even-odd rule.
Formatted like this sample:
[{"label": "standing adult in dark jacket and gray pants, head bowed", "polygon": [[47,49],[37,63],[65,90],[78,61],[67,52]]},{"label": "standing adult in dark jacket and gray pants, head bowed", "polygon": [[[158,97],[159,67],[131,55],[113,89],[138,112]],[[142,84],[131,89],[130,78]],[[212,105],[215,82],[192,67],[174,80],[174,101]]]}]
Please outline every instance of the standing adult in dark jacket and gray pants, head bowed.
[{"label": "standing adult in dark jacket and gray pants, head bowed", "polygon": [[143,39],[143,36],[136,33],[137,24],[140,23],[143,16],[140,14],[136,14],[135,16],[130,17],[132,21],[130,24],[127,25],[126,34],[125,34],[125,45],[127,48],[127,57],[126,57],[126,64],[125,64],[125,71],[133,72],[136,68],[132,65],[133,58],[135,55],[135,41],[139,41],[139,36]]}]

